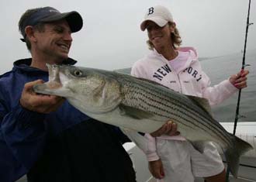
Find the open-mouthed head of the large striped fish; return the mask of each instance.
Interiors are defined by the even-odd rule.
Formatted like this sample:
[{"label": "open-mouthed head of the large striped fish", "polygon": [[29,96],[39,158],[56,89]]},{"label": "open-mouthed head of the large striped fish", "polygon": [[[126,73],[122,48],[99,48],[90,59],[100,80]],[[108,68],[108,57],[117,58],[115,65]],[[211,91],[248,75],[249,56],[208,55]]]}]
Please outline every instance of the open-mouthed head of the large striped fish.
[{"label": "open-mouthed head of the large striped fish", "polygon": [[122,101],[120,84],[106,70],[47,64],[49,81],[36,84],[40,94],[67,98],[81,112],[109,112]]}]

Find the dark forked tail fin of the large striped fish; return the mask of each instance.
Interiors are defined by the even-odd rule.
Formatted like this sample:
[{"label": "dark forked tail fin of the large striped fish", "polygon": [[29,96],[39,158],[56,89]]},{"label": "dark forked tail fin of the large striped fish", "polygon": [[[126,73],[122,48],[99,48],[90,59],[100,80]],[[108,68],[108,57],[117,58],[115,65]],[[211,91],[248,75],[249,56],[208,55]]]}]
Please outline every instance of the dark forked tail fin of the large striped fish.
[{"label": "dark forked tail fin of the large striped fish", "polygon": [[234,177],[237,178],[239,163],[240,163],[240,156],[253,149],[250,143],[245,142],[243,139],[238,138],[230,134],[232,139],[232,146],[228,148],[224,155],[227,160],[227,166],[230,169],[230,172],[233,174]]}]

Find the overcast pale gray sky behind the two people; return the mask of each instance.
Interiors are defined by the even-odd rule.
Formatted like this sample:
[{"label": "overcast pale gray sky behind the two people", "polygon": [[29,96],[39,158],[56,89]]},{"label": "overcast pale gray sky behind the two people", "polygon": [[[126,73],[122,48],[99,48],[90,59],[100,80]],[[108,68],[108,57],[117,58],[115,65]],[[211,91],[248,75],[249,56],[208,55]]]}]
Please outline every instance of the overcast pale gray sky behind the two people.
[{"label": "overcast pale gray sky behind the two people", "polygon": [[[200,57],[216,57],[244,49],[248,0],[1,0],[2,43],[0,74],[14,60],[30,57],[18,31],[26,9],[53,6],[61,12],[76,10],[83,29],[73,34],[70,57],[83,67],[106,70],[131,67],[147,53],[147,33],[140,22],[147,8],[165,5],[171,10],[182,36],[182,46],[195,46]],[[251,0],[247,49],[256,49],[256,0]]]}]

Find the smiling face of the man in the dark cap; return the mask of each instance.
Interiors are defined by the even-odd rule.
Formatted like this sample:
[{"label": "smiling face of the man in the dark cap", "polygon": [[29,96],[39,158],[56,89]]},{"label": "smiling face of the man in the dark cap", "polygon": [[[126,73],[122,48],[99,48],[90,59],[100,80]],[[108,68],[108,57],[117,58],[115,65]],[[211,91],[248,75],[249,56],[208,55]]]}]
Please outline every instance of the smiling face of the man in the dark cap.
[{"label": "smiling face of the man in the dark cap", "polygon": [[71,29],[65,20],[46,23],[44,31],[36,31],[35,49],[39,55],[62,61],[71,48]]}]

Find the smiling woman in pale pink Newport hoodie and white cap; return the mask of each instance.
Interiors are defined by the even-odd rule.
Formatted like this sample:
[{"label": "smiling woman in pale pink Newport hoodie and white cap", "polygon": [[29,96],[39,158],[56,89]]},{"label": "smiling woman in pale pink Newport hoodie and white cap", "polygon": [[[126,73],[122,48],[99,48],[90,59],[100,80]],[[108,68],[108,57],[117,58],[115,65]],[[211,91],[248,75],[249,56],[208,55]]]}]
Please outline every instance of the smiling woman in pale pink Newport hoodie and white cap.
[{"label": "smiling woman in pale pink Newport hoodie and white cap", "polygon": [[[147,43],[152,51],[133,65],[133,76],[157,81],[182,94],[207,98],[210,105],[217,105],[238,88],[247,87],[247,70],[209,87],[209,77],[202,71],[195,49],[179,47],[182,39],[165,7],[156,5],[148,9],[140,29],[147,29]],[[223,162],[213,143],[199,153],[182,136],[144,137],[147,145],[135,142],[147,154],[150,172],[160,181],[191,182],[194,177],[225,181]]]}]

